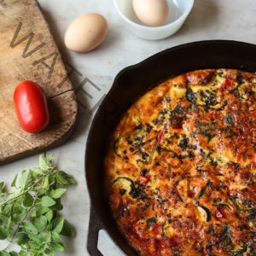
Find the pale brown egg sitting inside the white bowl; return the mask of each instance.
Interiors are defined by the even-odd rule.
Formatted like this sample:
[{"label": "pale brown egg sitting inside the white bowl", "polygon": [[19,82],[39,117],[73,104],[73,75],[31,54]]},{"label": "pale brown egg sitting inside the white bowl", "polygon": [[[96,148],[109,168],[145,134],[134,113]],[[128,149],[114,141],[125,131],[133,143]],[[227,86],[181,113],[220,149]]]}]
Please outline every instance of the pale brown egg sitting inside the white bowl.
[{"label": "pale brown egg sitting inside the white bowl", "polygon": [[162,26],[169,19],[166,0],[132,0],[132,7],[137,18],[148,26]]}]

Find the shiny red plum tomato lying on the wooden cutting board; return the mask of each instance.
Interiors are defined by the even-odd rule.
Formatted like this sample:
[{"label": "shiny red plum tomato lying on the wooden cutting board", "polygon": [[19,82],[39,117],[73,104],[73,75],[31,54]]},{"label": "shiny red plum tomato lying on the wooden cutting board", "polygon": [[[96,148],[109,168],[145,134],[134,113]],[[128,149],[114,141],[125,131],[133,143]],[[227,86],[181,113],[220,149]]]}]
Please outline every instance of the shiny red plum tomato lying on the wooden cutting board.
[{"label": "shiny red plum tomato lying on the wooden cutting board", "polygon": [[15,88],[15,112],[20,126],[27,132],[43,131],[49,125],[49,109],[43,88],[24,80]]}]

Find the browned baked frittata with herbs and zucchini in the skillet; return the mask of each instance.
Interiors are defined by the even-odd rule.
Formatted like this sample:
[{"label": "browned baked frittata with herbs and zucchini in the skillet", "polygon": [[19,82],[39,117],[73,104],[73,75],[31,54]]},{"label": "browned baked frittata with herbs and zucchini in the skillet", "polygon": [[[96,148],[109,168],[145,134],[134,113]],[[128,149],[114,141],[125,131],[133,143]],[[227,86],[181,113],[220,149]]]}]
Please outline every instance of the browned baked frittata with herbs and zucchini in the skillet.
[{"label": "browned baked frittata with herbs and zucchini in the skillet", "polygon": [[197,70],[125,113],[105,157],[113,218],[141,255],[256,255],[256,75]]}]

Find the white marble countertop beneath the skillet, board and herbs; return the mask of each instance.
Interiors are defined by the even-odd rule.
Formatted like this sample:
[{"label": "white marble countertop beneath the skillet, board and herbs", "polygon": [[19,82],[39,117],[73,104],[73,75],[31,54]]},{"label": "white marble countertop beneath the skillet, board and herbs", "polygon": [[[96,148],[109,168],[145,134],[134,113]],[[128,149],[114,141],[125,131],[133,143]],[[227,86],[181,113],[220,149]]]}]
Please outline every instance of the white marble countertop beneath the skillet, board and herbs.
[{"label": "white marble countertop beneath the skillet, board and herbs", "polygon": [[[126,1],[126,0],[124,0]],[[75,67],[80,74],[71,77],[74,88],[85,79],[96,84],[101,91],[91,84],[84,85],[90,93],[89,98],[81,91],[77,93],[80,106],[79,122],[73,136],[58,148],[47,154],[56,157],[58,166],[76,178],[77,184],[69,189],[63,200],[66,217],[76,230],[74,239],[66,240],[67,249],[55,255],[89,255],[86,250],[86,238],[89,222],[90,201],[84,177],[84,150],[94,108],[105,91],[108,91],[117,73],[124,67],[143,61],[160,50],[177,44],[206,39],[231,39],[256,44],[256,2],[255,0],[195,0],[194,8],[183,27],[171,38],[159,41],[146,41],[128,32],[113,9],[112,0],[38,0],[49,26],[54,34],[64,61]],[[97,49],[86,54],[73,53],[63,44],[67,26],[79,15],[89,12],[101,13],[109,23],[108,37]],[[16,172],[36,166],[38,155],[17,160],[0,166],[1,180],[10,182]],[[123,255],[108,241],[108,236],[101,232],[99,247],[105,256]]]}]

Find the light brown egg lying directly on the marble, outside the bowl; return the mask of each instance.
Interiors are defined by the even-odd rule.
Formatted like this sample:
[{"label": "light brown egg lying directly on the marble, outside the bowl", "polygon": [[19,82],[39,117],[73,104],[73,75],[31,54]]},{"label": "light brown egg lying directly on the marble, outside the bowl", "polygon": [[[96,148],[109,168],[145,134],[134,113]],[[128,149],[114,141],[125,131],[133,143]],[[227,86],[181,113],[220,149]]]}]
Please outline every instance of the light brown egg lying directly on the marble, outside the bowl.
[{"label": "light brown egg lying directly on the marble, outside the bowl", "polygon": [[108,21],[104,16],[90,13],[79,16],[67,27],[64,43],[67,49],[88,52],[102,44],[108,34]]}]

